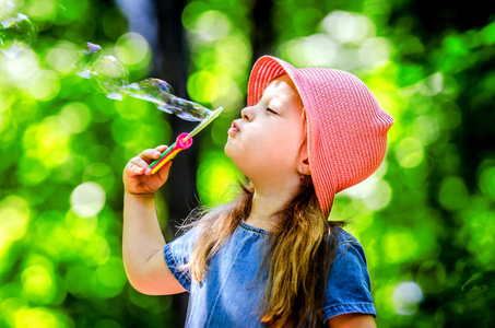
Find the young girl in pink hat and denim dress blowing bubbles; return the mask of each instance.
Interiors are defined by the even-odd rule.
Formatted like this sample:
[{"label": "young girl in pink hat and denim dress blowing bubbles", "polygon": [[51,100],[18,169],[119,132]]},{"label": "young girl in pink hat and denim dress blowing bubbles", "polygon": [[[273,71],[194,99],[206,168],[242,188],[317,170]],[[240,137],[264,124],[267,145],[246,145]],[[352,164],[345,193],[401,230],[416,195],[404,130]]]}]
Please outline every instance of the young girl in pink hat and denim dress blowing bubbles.
[{"label": "young girl in pink hat and denim dress blowing bubbles", "polygon": [[123,169],[123,260],[145,294],[189,292],[187,327],[375,327],[361,244],[328,221],[334,195],[380,165],[393,119],[356,77],[261,57],[225,153],[247,176],[236,201],[166,244],[153,196],[165,145]]}]

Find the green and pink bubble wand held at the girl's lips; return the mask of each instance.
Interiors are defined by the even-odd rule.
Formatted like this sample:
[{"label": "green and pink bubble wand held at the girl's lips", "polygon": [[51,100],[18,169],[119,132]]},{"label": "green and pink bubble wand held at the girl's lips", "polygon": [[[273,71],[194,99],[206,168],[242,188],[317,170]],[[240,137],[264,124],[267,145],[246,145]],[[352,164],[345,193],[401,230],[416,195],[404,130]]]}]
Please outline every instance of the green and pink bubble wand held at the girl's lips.
[{"label": "green and pink bubble wand held at the girl's lips", "polygon": [[219,107],[213,113],[211,113],[203,121],[201,121],[192,131],[189,133],[184,132],[177,137],[176,141],[168,147],[162,155],[150,164],[151,174],[155,174],[162,168],[165,163],[173,160],[177,154],[185,149],[188,149],[192,144],[192,137],[198,134],[202,129],[204,129],[210,122],[212,122],[219,115],[222,113],[223,108]]}]

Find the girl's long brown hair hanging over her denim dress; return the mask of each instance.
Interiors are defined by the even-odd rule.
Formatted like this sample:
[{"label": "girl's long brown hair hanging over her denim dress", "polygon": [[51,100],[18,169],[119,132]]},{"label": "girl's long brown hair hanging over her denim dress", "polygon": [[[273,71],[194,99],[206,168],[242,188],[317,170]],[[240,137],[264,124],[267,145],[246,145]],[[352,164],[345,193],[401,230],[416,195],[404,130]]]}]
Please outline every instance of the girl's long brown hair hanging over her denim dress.
[{"label": "girl's long brown hair hanging over her denim dress", "polygon": [[[195,280],[208,274],[208,262],[249,216],[255,189],[240,184],[241,192],[231,204],[216,208],[191,225],[200,235],[187,267]],[[313,184],[273,215],[268,248],[257,279],[267,278],[261,323],[268,327],[317,327],[322,324],[326,279],[337,247],[335,226],[320,210]]]}]

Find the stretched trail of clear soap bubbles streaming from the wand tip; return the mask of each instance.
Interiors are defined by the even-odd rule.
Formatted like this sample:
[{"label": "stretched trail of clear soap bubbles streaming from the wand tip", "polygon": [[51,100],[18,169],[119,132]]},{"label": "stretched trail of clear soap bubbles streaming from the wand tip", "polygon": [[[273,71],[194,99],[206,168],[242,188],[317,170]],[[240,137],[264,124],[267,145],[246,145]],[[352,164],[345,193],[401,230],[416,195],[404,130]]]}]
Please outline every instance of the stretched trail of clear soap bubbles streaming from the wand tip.
[{"label": "stretched trail of clear soap bubbles streaming from the wand tip", "polygon": [[123,95],[129,95],[151,102],[160,110],[189,121],[201,121],[213,113],[199,104],[175,96],[172,85],[163,80],[150,78],[129,83],[126,67],[114,56],[103,56],[102,47],[96,44],[87,43],[73,67],[81,78],[96,81],[110,99],[121,101]]}]

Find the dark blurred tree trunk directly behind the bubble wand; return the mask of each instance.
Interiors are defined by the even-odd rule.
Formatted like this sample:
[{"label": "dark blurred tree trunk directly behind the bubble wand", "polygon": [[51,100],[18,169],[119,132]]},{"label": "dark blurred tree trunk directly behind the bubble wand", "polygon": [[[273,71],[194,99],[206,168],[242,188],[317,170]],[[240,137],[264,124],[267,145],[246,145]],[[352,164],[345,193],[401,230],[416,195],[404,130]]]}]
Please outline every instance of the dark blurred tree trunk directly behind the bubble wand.
[{"label": "dark blurred tree trunk directly behind the bubble wand", "polygon": [[[187,68],[189,58],[187,47],[184,45],[184,30],[180,21],[185,0],[155,0],[155,9],[158,19],[158,46],[154,54],[155,74],[167,81],[179,97],[187,96]],[[169,119],[173,138],[180,132],[190,131],[197,122],[187,122],[175,116]],[[169,143],[174,142],[174,139]],[[164,141],[165,142],[165,141]],[[181,152],[170,168],[168,181],[165,185],[165,201],[168,208],[169,226],[174,238],[178,237],[176,224],[180,224],[189,214],[190,201],[195,199],[196,167],[198,148],[192,144],[190,149]],[[188,204],[189,203],[189,204]],[[169,243],[172,241],[167,241]],[[182,293],[173,296],[173,312],[177,327],[184,327],[186,320],[189,294]]]}]

